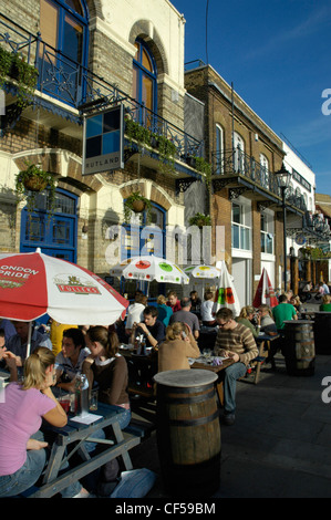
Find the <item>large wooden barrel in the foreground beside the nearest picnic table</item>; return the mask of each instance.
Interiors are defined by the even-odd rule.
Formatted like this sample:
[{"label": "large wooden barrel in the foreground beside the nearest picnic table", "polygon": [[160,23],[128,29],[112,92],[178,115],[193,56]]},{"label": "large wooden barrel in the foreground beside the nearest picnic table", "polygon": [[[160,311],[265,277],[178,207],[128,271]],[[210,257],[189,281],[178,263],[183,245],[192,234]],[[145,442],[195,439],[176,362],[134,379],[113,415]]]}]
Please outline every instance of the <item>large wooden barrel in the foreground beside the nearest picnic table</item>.
[{"label": "large wooden barrel in the foreground beside the nearest picnic table", "polygon": [[161,372],[156,436],[164,485],[172,496],[206,498],[220,479],[220,427],[214,383],[204,370]]}]

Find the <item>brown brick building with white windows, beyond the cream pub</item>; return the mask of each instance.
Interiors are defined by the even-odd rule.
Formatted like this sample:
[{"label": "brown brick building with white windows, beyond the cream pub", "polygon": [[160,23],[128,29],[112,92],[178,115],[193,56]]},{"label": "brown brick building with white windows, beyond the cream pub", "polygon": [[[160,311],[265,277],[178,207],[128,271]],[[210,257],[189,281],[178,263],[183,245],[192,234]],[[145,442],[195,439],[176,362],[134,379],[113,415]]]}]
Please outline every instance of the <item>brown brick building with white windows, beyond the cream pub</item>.
[{"label": "brown brick building with white windows, beyond the cream pub", "polygon": [[[242,306],[251,303],[262,268],[275,288],[283,288],[283,204],[275,175],[285,162],[283,143],[213,66],[196,63],[185,73],[185,86],[205,105],[210,215],[214,228],[225,230],[216,257],[226,260]],[[298,216],[302,223],[303,193],[287,197],[286,207],[288,218]]]}]

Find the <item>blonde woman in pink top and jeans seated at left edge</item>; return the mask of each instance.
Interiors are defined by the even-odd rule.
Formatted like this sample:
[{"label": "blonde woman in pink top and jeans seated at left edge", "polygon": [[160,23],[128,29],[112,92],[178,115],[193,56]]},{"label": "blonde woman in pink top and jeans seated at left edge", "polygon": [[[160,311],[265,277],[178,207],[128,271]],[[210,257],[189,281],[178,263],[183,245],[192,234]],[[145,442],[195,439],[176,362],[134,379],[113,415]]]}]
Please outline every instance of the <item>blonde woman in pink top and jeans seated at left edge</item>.
[{"label": "blonde woman in pink top and jeans seated at left edge", "polygon": [[[0,394],[0,497],[13,497],[32,487],[44,468],[48,444],[33,438],[42,418],[56,427],[68,418],[51,391],[55,356],[49,349],[28,357],[22,384],[15,382],[14,357],[10,352],[6,357],[13,382]],[[79,482],[62,491],[65,498],[87,495]]]}]

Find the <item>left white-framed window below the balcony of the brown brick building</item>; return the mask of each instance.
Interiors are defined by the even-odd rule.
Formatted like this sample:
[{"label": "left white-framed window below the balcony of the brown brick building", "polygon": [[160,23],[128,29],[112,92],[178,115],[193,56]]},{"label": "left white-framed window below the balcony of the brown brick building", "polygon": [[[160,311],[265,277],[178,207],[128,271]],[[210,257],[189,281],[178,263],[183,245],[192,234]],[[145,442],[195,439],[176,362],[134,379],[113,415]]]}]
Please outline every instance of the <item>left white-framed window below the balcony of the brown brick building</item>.
[{"label": "left white-framed window below the balcony of the brown brick building", "polygon": [[249,251],[251,249],[251,211],[249,206],[232,202],[231,231],[232,248]]}]

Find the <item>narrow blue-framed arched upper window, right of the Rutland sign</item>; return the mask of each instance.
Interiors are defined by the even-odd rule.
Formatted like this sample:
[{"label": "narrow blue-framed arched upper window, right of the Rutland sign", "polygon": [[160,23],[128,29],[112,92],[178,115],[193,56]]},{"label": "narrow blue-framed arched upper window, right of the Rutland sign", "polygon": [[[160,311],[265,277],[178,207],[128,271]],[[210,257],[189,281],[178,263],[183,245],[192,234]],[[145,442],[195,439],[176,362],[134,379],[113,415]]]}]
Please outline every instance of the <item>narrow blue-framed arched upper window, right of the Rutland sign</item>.
[{"label": "narrow blue-framed arched upper window, right of the Rutland sign", "polygon": [[157,112],[157,71],[153,55],[141,39],[135,42],[136,54],[133,60],[133,96],[147,110],[142,111],[141,121],[148,124],[151,112]]}]

